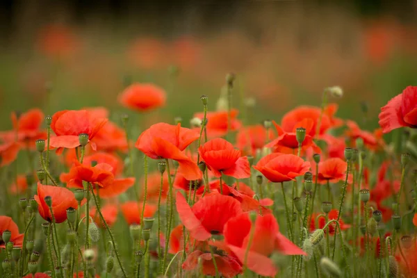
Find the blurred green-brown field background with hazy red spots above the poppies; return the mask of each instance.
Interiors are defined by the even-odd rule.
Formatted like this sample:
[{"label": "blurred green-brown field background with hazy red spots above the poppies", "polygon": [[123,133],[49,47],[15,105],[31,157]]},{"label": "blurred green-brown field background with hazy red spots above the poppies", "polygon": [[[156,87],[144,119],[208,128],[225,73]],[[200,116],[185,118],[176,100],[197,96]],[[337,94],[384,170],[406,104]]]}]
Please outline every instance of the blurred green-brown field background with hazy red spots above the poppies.
[{"label": "blurred green-brown field background with hazy red spots above the poppies", "polygon": [[1,1],[0,127],[31,107],[106,106],[117,117],[131,81],[167,90],[147,125],[189,119],[200,95],[215,109],[234,72],[247,124],[319,106],[322,90],[340,85],[337,115],[367,113],[361,126],[374,128],[379,108],[417,85],[416,0],[131,2]]}]

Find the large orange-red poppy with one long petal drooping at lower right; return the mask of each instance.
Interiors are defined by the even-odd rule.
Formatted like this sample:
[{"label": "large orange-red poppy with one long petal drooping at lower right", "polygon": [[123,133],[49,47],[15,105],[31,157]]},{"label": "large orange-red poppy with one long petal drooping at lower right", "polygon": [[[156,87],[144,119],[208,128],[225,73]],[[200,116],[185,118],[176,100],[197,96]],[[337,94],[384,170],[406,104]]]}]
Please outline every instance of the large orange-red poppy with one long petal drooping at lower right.
[{"label": "large orange-red poppy with one long petal drooping at lower right", "polygon": [[178,161],[178,171],[186,179],[195,180],[202,177],[202,172],[182,151],[199,138],[199,133],[191,129],[163,122],[154,124],[140,134],[135,147],[153,159],[167,158]]}]

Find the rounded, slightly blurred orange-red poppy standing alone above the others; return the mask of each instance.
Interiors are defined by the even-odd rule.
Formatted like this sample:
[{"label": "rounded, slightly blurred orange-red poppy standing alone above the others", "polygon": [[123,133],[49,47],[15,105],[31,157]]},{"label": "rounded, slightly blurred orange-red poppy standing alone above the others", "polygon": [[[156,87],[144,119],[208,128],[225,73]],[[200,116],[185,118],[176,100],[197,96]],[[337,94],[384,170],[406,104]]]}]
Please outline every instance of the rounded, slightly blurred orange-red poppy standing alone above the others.
[{"label": "rounded, slightly blurred orange-red poppy standing alone above the others", "polygon": [[151,111],[165,104],[166,93],[154,84],[134,83],[119,96],[122,106],[140,112]]}]

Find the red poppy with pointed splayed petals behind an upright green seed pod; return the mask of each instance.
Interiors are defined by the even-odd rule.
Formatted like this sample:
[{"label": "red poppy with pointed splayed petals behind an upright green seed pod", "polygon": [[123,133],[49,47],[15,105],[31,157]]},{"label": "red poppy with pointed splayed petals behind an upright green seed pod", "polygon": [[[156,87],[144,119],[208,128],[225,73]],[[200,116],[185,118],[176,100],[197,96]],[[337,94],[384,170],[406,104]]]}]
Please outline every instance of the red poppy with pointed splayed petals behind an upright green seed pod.
[{"label": "red poppy with pointed splayed petals behind an upright green seed pod", "polygon": [[275,129],[278,132],[278,138],[269,142],[265,147],[272,147],[273,152],[281,152],[284,154],[294,154],[295,150],[298,149],[297,133],[296,129],[298,127],[303,127],[306,129],[306,136],[302,142],[301,148],[302,152],[305,152],[307,149],[313,149],[313,152],[320,153],[321,150],[317,147],[316,143],[313,141],[313,138],[309,135],[311,129],[313,128],[313,121],[311,119],[302,120],[294,126],[292,132],[285,132],[281,129],[275,121],[272,121],[275,125]]}]

